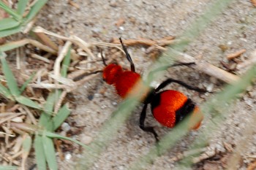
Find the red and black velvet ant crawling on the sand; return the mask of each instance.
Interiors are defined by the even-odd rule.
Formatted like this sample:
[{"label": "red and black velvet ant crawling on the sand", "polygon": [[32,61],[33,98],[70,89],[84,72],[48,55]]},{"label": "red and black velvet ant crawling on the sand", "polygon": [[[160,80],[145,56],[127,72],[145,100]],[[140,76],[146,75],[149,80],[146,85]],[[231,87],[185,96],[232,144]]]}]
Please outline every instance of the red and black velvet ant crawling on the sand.
[{"label": "red and black velvet ant crawling on the sand", "polygon": [[[106,66],[103,70],[102,77],[105,82],[115,86],[116,92],[119,96],[121,96],[121,98],[125,98],[130,93],[136,93],[133,89],[135,88],[135,85],[138,85],[140,82],[140,84],[143,85],[143,83],[140,74],[135,72],[135,65],[132,62],[132,58],[127,51],[127,47],[125,47],[121,38],[120,42],[126,54],[127,60],[130,63],[131,71],[124,71],[122,67],[116,63],[110,63],[107,65],[105,63],[105,58],[102,56],[103,63]],[[191,64],[195,63],[176,63],[172,66],[189,66]],[[152,88],[150,92],[147,93],[142,99],[144,106],[140,114],[140,128],[143,131],[148,131],[154,134],[157,142],[159,139],[156,131],[154,131],[154,128],[152,126],[145,125],[146,109],[148,104],[151,104],[151,112],[154,118],[167,128],[173,128],[177,123],[183,120],[184,117],[187,117],[187,115],[192,112],[193,114],[200,114],[201,120],[203,120],[203,115],[190,98],[187,98],[187,96],[185,96],[183,93],[176,90],[162,90],[162,88],[165,88],[171,82],[176,82],[189,90],[195,90],[200,93],[207,92],[206,90],[192,87],[187,85],[185,82],[171,78],[162,82],[157,88]],[[197,123],[197,125],[192,127],[192,129],[197,129],[199,126],[200,123]]]}]

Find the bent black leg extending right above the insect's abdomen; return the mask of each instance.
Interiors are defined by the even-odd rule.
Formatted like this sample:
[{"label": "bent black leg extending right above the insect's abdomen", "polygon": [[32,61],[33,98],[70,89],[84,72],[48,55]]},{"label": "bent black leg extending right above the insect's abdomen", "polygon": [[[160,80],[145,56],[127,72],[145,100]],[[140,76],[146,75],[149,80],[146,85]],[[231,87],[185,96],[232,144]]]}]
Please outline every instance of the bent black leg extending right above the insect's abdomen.
[{"label": "bent black leg extending right above the insect's abdomen", "polygon": [[206,93],[208,92],[207,90],[203,90],[203,89],[200,89],[200,88],[197,88],[197,87],[193,87],[191,85],[187,85],[185,82],[181,82],[180,80],[174,80],[172,78],[169,78],[167,80],[165,80],[164,82],[162,82],[157,88],[156,88],[156,92],[161,90],[162,88],[165,88],[165,86],[169,85],[171,82],[176,82],[178,83],[179,85],[182,85],[184,86],[185,88],[189,89],[189,90],[195,90],[197,92],[200,92],[200,93]]}]

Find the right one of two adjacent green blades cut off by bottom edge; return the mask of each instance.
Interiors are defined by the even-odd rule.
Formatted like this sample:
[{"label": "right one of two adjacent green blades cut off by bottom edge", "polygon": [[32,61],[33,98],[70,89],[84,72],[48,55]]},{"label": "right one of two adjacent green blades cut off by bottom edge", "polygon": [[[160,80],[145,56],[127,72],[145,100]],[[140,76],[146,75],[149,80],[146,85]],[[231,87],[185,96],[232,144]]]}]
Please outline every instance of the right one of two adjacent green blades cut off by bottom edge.
[{"label": "right one of two adjacent green blades cut off by bottom edge", "polygon": [[50,139],[47,136],[42,136],[42,145],[45,150],[45,158],[48,163],[50,170],[58,170],[58,164],[56,160],[56,153],[54,149],[53,139]]}]

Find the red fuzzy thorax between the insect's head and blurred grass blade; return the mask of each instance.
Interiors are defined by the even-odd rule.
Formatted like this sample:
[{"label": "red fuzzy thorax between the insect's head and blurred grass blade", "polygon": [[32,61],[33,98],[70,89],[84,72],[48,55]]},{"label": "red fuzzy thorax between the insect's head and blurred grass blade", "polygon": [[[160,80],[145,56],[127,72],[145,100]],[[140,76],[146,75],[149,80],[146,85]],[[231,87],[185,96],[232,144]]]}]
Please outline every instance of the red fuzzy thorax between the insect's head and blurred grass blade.
[{"label": "red fuzzy thorax between the insect's head and blurred grass blade", "polygon": [[125,98],[129,93],[132,93],[132,88],[140,80],[140,74],[135,72],[126,71],[119,74],[115,84],[118,95]]}]

